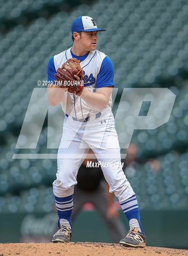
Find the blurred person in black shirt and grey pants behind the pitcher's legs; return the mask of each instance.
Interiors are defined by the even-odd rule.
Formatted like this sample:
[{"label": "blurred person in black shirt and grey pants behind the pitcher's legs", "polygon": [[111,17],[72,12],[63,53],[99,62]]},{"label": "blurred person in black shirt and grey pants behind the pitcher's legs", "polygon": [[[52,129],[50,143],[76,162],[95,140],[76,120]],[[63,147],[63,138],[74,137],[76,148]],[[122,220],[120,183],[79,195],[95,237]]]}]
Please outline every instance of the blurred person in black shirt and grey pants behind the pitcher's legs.
[{"label": "blurred person in black shirt and grey pants behind the pitcher's legs", "polygon": [[88,162],[95,162],[92,153],[90,149],[78,171],[72,219],[75,220],[86,202],[91,202],[107,225],[111,240],[119,243],[125,234],[124,225],[114,204],[114,194],[109,192],[109,185],[104,180],[101,167],[87,167]]}]

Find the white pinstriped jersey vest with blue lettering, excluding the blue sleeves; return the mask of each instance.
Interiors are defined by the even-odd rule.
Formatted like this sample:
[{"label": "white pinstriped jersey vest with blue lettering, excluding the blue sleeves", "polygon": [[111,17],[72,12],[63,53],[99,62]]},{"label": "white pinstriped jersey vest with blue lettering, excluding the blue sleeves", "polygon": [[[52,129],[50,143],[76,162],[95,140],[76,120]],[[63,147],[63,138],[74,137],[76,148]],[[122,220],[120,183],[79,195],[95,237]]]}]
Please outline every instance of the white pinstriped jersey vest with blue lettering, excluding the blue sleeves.
[{"label": "white pinstriped jersey vest with blue lettering, excluding the blue sleeves", "polygon": [[[103,59],[107,57],[106,54],[94,50],[90,51],[88,56],[85,58],[84,61],[81,62],[81,68],[84,72],[84,79],[86,80],[84,86],[87,90],[95,92],[95,85],[98,73],[101,68],[101,64]],[[58,67],[62,67],[62,65],[69,59],[73,58],[71,54],[71,48],[67,49],[60,54],[54,56],[54,65],[56,70]],[[108,106],[111,106],[112,98],[110,97]],[[62,109],[65,114],[68,114],[72,117],[77,119],[83,119],[85,117],[95,115],[100,112],[100,108],[93,108],[88,103],[86,103],[81,97],[69,93],[68,90],[64,93],[64,98],[61,102]]]}]

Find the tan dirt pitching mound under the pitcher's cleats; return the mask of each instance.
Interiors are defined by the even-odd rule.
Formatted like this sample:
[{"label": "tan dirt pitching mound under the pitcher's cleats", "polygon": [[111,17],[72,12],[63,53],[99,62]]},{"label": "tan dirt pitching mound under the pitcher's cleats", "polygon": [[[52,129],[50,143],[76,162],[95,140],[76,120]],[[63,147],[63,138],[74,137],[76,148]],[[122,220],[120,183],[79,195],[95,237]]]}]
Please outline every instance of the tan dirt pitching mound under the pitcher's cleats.
[{"label": "tan dirt pitching mound under the pitcher's cleats", "polygon": [[115,243],[1,243],[0,256],[184,256],[187,250],[128,248]]}]

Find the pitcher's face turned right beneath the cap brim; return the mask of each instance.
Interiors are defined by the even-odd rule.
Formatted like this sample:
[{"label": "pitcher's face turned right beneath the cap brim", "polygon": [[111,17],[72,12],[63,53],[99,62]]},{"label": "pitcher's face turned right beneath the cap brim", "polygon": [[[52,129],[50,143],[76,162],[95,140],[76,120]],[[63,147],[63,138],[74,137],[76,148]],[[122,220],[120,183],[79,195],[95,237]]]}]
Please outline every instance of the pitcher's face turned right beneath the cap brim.
[{"label": "pitcher's face turned right beneath the cap brim", "polygon": [[81,43],[81,46],[86,51],[94,51],[97,47],[97,40],[98,40],[97,31],[81,32],[80,43]]}]

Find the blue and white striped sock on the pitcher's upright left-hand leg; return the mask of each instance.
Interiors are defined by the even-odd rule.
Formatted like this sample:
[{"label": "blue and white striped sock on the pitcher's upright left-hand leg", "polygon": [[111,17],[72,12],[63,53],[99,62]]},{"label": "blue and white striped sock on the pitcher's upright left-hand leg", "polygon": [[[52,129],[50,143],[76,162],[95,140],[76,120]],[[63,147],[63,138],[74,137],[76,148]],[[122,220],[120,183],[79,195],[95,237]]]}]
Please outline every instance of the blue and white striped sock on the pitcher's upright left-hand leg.
[{"label": "blue and white striped sock on the pitcher's upright left-hand leg", "polygon": [[57,214],[59,217],[58,226],[61,225],[72,228],[72,211],[73,211],[73,195],[65,198],[58,198],[55,196]]}]

